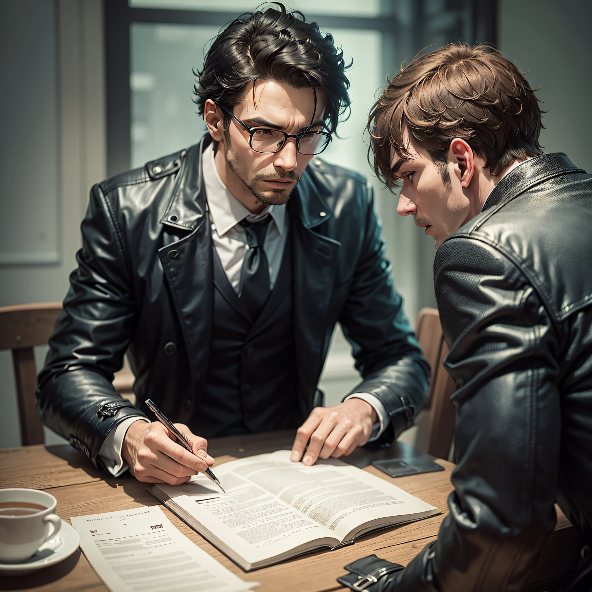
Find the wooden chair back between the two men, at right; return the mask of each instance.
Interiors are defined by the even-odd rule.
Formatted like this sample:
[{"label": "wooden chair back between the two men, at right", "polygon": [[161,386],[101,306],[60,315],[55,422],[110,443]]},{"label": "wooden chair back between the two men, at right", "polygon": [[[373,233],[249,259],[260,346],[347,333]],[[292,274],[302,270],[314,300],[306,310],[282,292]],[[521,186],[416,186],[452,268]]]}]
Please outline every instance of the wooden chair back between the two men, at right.
[{"label": "wooden chair back between the two men, at right", "polygon": [[449,349],[442,335],[442,325],[436,308],[422,308],[419,311],[416,335],[432,368],[430,387],[424,405],[430,408],[427,453],[448,459],[455,422],[455,409],[450,398],[456,390],[456,384],[443,365]]}]

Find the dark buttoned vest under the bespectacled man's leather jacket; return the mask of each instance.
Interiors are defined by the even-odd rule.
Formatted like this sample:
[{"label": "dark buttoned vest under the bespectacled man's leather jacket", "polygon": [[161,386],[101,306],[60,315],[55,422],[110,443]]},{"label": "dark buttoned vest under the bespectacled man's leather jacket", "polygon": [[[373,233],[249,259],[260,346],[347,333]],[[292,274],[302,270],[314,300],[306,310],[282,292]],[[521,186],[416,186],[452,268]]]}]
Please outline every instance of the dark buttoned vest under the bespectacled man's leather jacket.
[{"label": "dark buttoned vest under the bespectacled man's leather jacket", "polygon": [[274,289],[253,323],[214,259],[214,318],[204,390],[189,427],[205,438],[298,427],[292,235]]}]

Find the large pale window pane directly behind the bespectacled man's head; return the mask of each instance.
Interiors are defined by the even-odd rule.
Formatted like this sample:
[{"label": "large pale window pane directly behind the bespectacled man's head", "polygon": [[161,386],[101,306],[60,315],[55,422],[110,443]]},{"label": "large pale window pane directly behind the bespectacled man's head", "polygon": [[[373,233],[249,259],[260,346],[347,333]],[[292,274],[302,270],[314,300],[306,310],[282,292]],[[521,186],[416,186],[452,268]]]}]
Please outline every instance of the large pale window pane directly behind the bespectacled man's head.
[{"label": "large pale window pane directly behind the bespectacled man's head", "polygon": [[[200,68],[216,27],[133,23],[131,50],[131,165],[142,166],[197,143],[205,124],[191,101],[194,75]],[[384,80],[378,31],[332,29],[342,46],[351,81],[352,110],[337,128],[323,159],[368,175],[367,146],[362,139],[368,108]]]}]

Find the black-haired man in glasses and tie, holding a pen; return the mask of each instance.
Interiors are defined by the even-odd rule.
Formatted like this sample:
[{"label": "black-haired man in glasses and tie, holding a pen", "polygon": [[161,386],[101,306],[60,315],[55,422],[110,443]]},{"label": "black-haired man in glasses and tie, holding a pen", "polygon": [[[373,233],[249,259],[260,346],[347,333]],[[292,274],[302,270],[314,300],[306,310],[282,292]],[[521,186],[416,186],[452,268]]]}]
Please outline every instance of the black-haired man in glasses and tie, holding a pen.
[{"label": "black-haired man in glasses and tie, holding a pen", "polygon": [[[243,16],[198,73],[201,143],[92,188],[38,406],[112,474],[179,484],[213,464],[207,437],[298,426],[291,458],[311,465],[413,422],[429,369],[371,186],[317,156],[348,86],[342,52],[301,13]],[[324,408],[337,321],[363,380]],[[136,406],[111,385],[126,350]],[[147,398],[194,455],[147,423]]]}]

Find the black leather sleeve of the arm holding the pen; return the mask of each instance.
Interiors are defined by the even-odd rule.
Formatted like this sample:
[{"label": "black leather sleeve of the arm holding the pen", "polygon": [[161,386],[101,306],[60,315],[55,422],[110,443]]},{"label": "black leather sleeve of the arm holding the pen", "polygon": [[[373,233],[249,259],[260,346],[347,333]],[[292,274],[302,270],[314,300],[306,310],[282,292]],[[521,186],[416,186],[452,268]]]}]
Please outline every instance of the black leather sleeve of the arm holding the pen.
[{"label": "black leather sleeve of the arm holding the pen", "polygon": [[118,423],[144,417],[111,384],[123,366],[136,309],[123,242],[98,185],[82,221],[82,239],[37,396],[43,423],[96,464],[103,440]]}]

